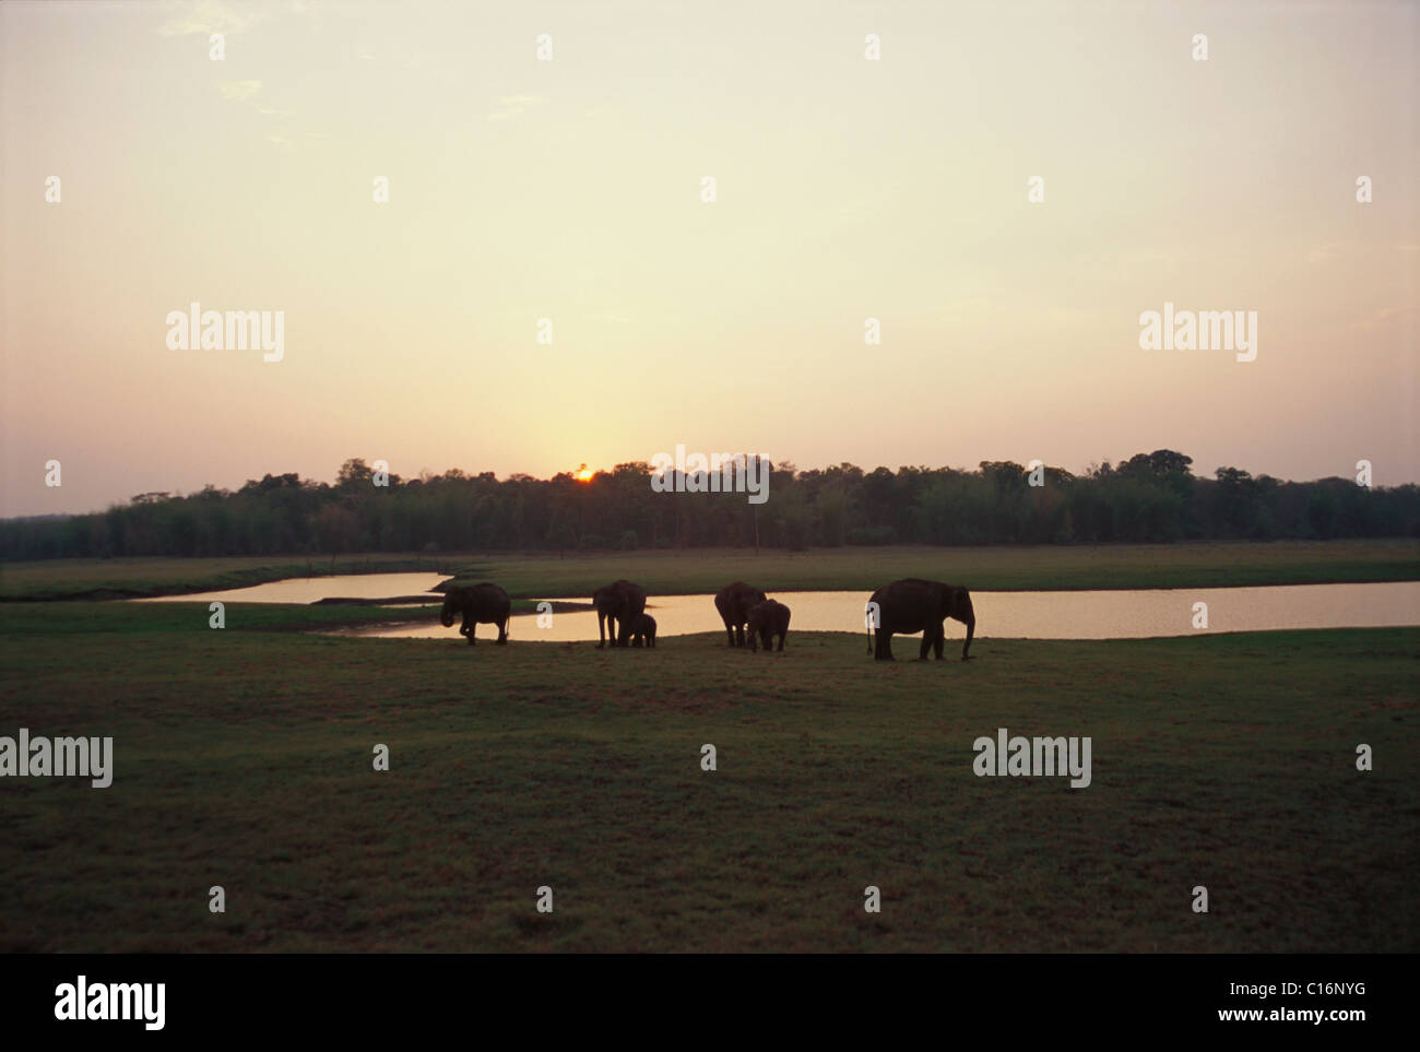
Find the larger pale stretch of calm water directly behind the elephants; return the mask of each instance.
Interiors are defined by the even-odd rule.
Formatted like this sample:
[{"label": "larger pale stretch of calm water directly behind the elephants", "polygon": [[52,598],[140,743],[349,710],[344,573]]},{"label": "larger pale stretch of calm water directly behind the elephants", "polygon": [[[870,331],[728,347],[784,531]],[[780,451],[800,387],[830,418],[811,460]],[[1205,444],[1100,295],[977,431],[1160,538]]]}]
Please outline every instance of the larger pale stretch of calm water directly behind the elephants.
[{"label": "larger pale stretch of calm water directly behind the elephants", "polygon": [[[331,595],[342,592],[331,592]],[[393,593],[393,592],[392,592]],[[408,592],[405,592],[408,593]],[[790,633],[863,633],[863,603],[869,592],[778,592],[792,610]],[[552,602],[588,602],[586,596]],[[1194,588],[1118,592],[973,592],[977,637],[1011,639],[1142,639],[1189,636],[1196,632],[1261,632],[1265,629],[1383,628],[1420,625],[1420,582],[1379,585],[1287,585],[1271,588]],[[1193,603],[1208,605],[1208,628],[1193,628]],[[660,636],[724,632],[711,595],[652,596],[648,610]],[[457,639],[457,629],[437,622],[361,629],[361,636],[386,639]],[[596,639],[591,610],[552,613],[540,629],[537,616],[513,619],[520,640],[575,642]],[[497,630],[480,626],[491,639]],[[947,637],[961,639],[966,628],[947,622]],[[462,642],[462,640],[460,640]],[[865,635],[866,645],[866,635]]]}]

